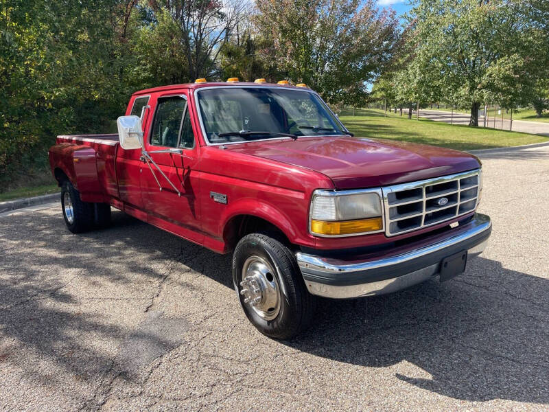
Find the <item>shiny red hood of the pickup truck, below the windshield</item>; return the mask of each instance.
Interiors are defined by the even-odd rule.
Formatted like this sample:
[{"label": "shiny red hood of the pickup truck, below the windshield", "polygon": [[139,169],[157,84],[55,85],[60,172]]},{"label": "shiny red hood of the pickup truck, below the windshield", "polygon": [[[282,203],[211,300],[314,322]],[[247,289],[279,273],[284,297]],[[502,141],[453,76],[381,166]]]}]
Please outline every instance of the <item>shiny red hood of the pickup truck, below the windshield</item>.
[{"label": "shiny red hood of the pickup truck, below the windshield", "polygon": [[418,181],[480,167],[476,157],[457,150],[363,137],[300,137],[227,148],[316,170],[338,189]]}]

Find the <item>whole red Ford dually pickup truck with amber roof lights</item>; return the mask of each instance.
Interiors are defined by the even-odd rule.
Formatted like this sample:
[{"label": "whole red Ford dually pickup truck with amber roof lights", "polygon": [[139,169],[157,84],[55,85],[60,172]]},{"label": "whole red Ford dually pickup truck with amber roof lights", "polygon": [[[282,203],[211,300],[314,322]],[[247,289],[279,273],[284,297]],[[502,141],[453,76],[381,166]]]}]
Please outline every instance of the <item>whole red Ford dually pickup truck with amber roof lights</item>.
[{"label": "whole red Ford dually pickup truck with amber roof lights", "polygon": [[205,82],[134,93],[117,135],[49,150],[80,233],[111,207],[218,253],[262,333],[289,339],[317,297],[392,293],[465,271],[484,250],[480,161],[353,137],[318,93],[288,82]]}]

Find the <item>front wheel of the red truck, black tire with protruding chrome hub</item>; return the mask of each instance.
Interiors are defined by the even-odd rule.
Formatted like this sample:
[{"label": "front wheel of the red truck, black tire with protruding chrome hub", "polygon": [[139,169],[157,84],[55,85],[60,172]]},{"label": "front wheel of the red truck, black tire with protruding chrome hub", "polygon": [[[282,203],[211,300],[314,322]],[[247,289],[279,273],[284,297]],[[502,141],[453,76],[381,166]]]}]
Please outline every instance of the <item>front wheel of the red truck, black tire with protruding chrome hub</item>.
[{"label": "front wheel of the red truck, black tire with protruding chrome hub", "polygon": [[294,254],[278,240],[244,236],[233,255],[233,284],[246,317],[262,334],[290,339],[310,325],[316,299]]}]

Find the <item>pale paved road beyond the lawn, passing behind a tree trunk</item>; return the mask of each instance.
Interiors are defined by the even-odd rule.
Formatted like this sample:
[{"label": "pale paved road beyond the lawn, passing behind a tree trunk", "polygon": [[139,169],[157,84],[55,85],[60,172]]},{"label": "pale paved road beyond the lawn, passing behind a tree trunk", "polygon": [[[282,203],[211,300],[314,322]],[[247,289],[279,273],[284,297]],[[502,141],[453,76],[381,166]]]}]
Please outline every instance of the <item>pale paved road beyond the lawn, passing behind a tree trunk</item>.
[{"label": "pale paved road beyond the lawn, passing behind a tree trunk", "polygon": [[[415,113],[416,112],[414,111],[414,115]],[[425,117],[426,119],[435,120],[436,122],[445,122],[445,123],[454,122],[454,124],[469,124],[469,119],[471,115],[464,115],[463,113],[454,113],[452,117],[452,112],[421,109],[419,111],[419,117]],[[501,116],[499,117],[496,116],[495,118],[493,116],[489,116],[487,118],[488,120],[487,127],[496,128],[496,129],[503,128],[503,130],[509,130],[509,128],[511,127],[509,115],[504,115],[504,117],[505,118],[503,119],[503,124],[502,124]],[[483,117],[479,117],[478,125],[482,126],[482,124],[483,124]],[[527,122],[525,120],[513,120],[513,131],[531,133],[532,135],[549,136],[549,123]]]}]

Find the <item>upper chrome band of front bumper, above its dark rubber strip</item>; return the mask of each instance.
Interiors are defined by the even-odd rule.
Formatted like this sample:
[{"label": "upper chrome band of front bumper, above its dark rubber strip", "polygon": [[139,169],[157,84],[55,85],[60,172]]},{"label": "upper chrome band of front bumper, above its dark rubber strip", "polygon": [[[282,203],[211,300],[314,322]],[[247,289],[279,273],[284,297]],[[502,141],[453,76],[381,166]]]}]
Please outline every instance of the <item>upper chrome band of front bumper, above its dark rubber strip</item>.
[{"label": "upper chrome band of front bumper, above its dark rubber strip", "polygon": [[475,217],[476,218],[472,222],[467,223],[467,225],[471,225],[471,228],[467,231],[459,233],[458,235],[450,236],[442,242],[431,244],[430,246],[422,247],[421,249],[416,249],[414,251],[402,253],[401,255],[390,256],[388,258],[377,260],[366,260],[365,262],[351,264],[345,263],[342,260],[321,258],[320,256],[309,255],[308,253],[302,252],[296,253],[296,259],[299,264],[299,268],[302,271],[307,272],[307,270],[312,269],[314,271],[330,274],[355,273],[393,266],[395,264],[401,264],[413,259],[421,258],[422,256],[430,255],[431,253],[436,253],[446,249],[447,247],[452,247],[454,244],[473,238],[474,236],[477,236],[491,228],[492,222],[489,216],[476,214]]}]

